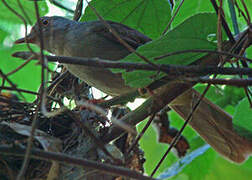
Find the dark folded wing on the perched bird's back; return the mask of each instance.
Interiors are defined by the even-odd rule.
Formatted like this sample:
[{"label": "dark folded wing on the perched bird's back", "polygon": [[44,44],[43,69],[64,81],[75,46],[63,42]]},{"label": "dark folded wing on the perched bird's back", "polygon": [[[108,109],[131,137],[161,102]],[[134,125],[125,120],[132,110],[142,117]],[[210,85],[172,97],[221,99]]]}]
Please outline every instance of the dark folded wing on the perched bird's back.
[{"label": "dark folded wing on the perched bird's back", "polygon": [[[114,31],[116,31],[120,35],[120,38],[122,40],[124,40],[134,49],[151,41],[149,37],[126,25],[112,21],[106,21],[106,22],[113,28]],[[92,31],[106,37],[111,41],[120,43],[119,40],[111,33],[111,31],[101,21],[97,21],[97,24],[94,26]]]}]

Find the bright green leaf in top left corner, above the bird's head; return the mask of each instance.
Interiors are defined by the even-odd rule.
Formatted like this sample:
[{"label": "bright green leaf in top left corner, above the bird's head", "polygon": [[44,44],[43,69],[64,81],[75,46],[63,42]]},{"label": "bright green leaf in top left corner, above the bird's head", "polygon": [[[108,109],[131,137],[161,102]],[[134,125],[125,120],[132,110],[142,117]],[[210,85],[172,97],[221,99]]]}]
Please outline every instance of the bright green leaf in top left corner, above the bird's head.
[{"label": "bright green leaf in top left corner, above the bird's head", "polygon": [[[15,11],[17,11],[21,16],[24,16],[18,1],[16,0],[5,0],[6,3]],[[34,8],[34,2],[33,1],[27,1],[27,0],[20,0],[21,7],[23,7],[24,11],[26,12],[27,16],[30,18],[31,23],[34,23],[36,21],[36,11]],[[40,16],[44,16],[48,12],[48,7],[45,1],[38,1],[39,5],[39,14]],[[13,12],[11,12],[3,3],[0,5],[0,22],[1,21],[7,21],[8,23],[14,23],[14,24],[23,24],[23,21],[18,18]],[[29,24],[29,21],[27,21]]]}]

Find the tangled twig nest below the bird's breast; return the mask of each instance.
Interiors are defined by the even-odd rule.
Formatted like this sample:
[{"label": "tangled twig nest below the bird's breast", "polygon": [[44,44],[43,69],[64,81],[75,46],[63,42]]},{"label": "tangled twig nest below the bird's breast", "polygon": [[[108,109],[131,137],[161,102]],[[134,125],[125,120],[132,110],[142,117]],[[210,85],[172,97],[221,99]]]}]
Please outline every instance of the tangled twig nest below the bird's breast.
[{"label": "tangled twig nest below the bird's breast", "polygon": [[[53,76],[53,81],[59,74]],[[65,98],[90,99],[89,86],[67,73],[65,78],[49,87],[51,100],[46,111],[57,111]],[[80,96],[81,95],[81,96]],[[62,105],[61,104],[61,105]],[[36,119],[32,150],[64,153],[70,157],[92,160],[97,164],[127,167],[143,173],[143,151],[136,145],[128,152],[135,137],[125,134],[114,143],[104,144],[100,137],[106,136],[111,127],[109,119],[90,108],[68,108],[53,116],[45,116],[37,108],[38,101],[22,102],[10,93],[0,95],[0,146],[10,149],[26,149]],[[125,108],[110,108],[122,116]],[[104,110],[108,112],[109,110]],[[33,157],[33,156],[31,156]],[[22,167],[24,154],[5,153],[0,156],[0,179],[15,179]],[[116,170],[116,169],[115,169]],[[31,158],[25,171],[25,179],[115,179],[118,175],[104,173],[95,168],[80,167],[72,163],[59,163],[50,159]]]}]

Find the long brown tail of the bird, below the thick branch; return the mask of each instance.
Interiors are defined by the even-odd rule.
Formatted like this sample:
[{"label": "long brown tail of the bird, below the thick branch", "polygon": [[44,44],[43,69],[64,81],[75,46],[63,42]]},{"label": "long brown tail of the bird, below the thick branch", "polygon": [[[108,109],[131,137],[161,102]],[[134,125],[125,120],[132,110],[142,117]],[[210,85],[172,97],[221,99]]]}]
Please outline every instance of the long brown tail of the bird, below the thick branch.
[{"label": "long brown tail of the bird, below the thick branch", "polygon": [[[190,89],[176,98],[170,107],[187,119],[200,94]],[[199,135],[224,157],[241,163],[252,153],[252,141],[238,135],[232,125],[232,116],[204,98],[193,113],[189,124]]]}]

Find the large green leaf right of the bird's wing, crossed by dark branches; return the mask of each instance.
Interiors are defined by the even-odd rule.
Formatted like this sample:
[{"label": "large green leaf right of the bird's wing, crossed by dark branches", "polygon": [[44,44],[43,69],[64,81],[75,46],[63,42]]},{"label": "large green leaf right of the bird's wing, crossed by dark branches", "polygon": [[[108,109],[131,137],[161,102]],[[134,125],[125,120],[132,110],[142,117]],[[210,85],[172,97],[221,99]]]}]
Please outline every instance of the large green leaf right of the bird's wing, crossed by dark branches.
[{"label": "large green leaf right of the bird's wing, crossed by dark branches", "polygon": [[[213,13],[201,13],[194,15],[173,30],[169,31],[160,39],[153,40],[137,49],[137,52],[153,63],[158,64],[174,64],[188,65],[206,53],[183,53],[174,56],[168,56],[159,60],[154,60],[159,56],[166,55],[175,51],[192,50],[192,49],[208,49],[216,48],[216,43],[209,40],[209,35],[216,32],[217,17]],[[135,54],[130,54],[121,62],[143,62],[141,58]],[[144,87],[153,81],[156,72],[113,70],[113,72],[122,72],[123,78],[127,85],[133,87]],[[160,73],[155,79],[163,77],[165,74]]]}]

